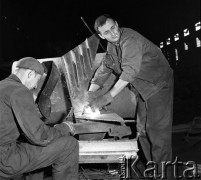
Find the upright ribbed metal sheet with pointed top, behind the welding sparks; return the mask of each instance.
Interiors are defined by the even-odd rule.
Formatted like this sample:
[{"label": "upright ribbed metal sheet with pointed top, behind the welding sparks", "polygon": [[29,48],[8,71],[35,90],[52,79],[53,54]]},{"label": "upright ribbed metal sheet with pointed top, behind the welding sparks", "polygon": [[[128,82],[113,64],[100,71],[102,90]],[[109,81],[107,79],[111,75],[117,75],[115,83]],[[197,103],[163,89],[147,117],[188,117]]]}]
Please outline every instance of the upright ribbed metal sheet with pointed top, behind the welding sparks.
[{"label": "upright ribbed metal sheet with pointed top, behind the welding sparks", "polygon": [[98,45],[99,38],[93,35],[62,56],[60,66],[66,78],[75,112],[80,111],[86,103],[85,95],[96,69],[94,62]]}]

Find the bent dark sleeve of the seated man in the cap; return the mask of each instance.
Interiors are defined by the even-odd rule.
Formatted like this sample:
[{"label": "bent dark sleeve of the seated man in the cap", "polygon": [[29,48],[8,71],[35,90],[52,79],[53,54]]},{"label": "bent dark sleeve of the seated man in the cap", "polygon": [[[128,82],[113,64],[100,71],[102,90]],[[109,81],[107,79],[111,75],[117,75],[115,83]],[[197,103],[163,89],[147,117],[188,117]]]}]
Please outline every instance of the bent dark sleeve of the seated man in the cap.
[{"label": "bent dark sleeve of the seated man in the cap", "polygon": [[33,144],[46,146],[64,134],[64,127],[66,127],[66,133],[69,132],[65,124],[58,125],[62,126],[61,131],[59,128],[45,125],[36,111],[32,94],[25,88],[19,88],[11,95],[11,105],[20,128]]}]

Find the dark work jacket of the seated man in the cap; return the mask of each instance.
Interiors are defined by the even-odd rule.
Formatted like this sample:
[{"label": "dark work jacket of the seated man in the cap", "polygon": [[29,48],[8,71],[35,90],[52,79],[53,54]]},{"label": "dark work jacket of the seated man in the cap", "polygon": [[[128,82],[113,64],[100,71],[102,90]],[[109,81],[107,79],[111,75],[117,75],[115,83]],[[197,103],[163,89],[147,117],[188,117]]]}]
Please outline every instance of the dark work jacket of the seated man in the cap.
[{"label": "dark work jacket of the seated man in the cap", "polygon": [[69,129],[64,123],[55,127],[45,125],[39,118],[31,91],[12,74],[0,82],[0,151],[7,145],[15,145],[20,133],[31,144],[46,146],[69,133]]}]

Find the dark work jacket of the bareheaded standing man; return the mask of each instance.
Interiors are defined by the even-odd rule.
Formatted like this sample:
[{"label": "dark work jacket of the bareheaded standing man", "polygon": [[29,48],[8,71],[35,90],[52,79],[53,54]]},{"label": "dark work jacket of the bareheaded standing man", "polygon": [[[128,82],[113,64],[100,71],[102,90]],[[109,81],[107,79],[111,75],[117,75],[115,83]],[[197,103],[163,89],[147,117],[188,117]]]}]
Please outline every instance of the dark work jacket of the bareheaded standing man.
[{"label": "dark work jacket of the bareheaded standing man", "polygon": [[121,28],[120,32],[117,43],[108,43],[106,58],[91,83],[102,86],[115,71],[147,100],[167,84],[172,69],[161,49],[151,41],[129,28]]}]

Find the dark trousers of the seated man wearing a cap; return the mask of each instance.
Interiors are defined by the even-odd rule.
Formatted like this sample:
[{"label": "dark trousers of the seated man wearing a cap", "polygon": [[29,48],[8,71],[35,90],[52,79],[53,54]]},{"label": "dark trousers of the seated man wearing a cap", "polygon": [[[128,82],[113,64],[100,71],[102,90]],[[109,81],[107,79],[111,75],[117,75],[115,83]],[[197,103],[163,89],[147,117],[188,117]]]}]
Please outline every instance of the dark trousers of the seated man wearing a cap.
[{"label": "dark trousers of the seated man wearing a cap", "polygon": [[60,137],[46,147],[16,144],[0,160],[0,178],[14,178],[52,165],[54,180],[78,180],[79,145],[71,136]]}]

